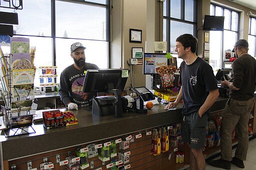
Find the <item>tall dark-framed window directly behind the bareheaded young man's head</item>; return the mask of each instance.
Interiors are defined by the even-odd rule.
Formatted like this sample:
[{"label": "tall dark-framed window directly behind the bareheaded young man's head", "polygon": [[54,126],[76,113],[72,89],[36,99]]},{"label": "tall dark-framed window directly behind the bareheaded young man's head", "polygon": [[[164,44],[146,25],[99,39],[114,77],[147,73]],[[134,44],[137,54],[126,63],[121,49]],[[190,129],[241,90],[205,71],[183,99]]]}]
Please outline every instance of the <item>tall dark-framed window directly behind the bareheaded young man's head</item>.
[{"label": "tall dark-framed window directly behind the bareheaded young man's head", "polygon": [[[196,0],[165,0],[163,2],[163,41],[167,51],[177,57],[176,38],[184,33],[196,33]],[[179,67],[182,59],[177,58]]]}]

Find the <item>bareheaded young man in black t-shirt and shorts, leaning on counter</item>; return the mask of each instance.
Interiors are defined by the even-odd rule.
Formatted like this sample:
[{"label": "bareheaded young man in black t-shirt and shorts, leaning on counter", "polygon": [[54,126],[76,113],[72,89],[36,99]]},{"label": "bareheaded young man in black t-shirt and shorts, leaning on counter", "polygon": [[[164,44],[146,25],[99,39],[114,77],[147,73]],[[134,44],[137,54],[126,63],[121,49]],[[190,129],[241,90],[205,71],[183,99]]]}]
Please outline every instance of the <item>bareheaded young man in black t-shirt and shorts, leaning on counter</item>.
[{"label": "bareheaded young man in black t-shirt and shorts, leaning on counter", "polygon": [[216,79],[211,66],[195,54],[197,39],[183,34],[176,39],[180,64],[181,88],[174,102],[165,109],[176,107],[183,100],[182,140],[190,147],[190,170],[205,170],[204,147],[208,110],[218,97]]}]

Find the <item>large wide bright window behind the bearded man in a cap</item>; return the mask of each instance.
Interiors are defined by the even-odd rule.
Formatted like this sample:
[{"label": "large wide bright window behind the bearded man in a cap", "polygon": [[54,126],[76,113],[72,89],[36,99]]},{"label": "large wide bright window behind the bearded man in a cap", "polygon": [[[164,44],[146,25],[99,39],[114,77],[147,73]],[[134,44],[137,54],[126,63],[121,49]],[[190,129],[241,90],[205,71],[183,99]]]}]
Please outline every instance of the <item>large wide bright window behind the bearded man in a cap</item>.
[{"label": "large wide bright window behind the bearded man in a cap", "polygon": [[[70,45],[81,42],[85,47],[85,61],[99,68],[108,68],[110,0],[23,0],[23,9],[0,7],[1,11],[17,12],[18,25],[14,36],[30,39],[35,46],[34,65],[57,66],[57,83],[62,70],[73,63]],[[4,46],[4,53],[10,49]],[[96,52],[96,51],[100,51]],[[39,86],[40,69],[34,85]]]}]

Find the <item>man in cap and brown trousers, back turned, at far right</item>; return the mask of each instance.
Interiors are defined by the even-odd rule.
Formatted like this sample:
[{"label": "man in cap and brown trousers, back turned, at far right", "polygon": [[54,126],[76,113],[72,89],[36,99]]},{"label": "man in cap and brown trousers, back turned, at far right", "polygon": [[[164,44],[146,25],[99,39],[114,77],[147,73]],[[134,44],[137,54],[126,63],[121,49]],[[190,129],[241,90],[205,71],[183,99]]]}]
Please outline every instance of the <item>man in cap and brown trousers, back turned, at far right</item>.
[{"label": "man in cap and brown trousers, back turned, at far right", "polygon": [[[256,60],[250,56],[248,42],[239,39],[234,48],[237,59],[232,64],[231,81],[222,81],[221,85],[229,87],[230,97],[225,105],[220,126],[220,151],[219,160],[209,161],[213,167],[230,170],[230,163],[239,168],[244,168],[248,150],[248,121],[249,113],[254,105],[254,91],[256,84]],[[238,139],[237,148],[232,158],[232,131]]]}]

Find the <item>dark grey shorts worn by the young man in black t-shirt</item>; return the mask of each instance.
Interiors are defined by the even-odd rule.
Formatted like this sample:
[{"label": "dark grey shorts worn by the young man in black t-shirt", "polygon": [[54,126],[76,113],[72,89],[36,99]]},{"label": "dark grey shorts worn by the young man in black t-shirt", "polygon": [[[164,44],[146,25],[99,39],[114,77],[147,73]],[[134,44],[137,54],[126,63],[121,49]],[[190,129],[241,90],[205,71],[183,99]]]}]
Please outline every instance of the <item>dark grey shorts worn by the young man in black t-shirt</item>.
[{"label": "dark grey shorts worn by the young man in black t-shirt", "polygon": [[182,140],[187,142],[190,148],[202,149],[204,147],[207,119],[207,113],[199,117],[198,111],[182,116]]}]

